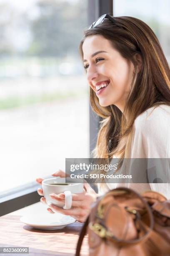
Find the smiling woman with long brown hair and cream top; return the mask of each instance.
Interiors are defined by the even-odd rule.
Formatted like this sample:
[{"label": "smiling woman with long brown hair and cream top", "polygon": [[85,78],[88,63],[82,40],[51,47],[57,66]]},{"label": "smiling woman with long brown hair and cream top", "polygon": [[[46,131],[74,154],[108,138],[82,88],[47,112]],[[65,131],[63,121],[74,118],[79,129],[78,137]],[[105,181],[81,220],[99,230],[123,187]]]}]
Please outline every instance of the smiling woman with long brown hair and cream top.
[{"label": "smiling woman with long brown hair and cream top", "polygon": [[[137,18],[102,15],[85,31],[80,53],[92,108],[103,118],[94,157],[170,158],[170,69],[150,27]],[[105,188],[116,186],[108,183]],[[138,192],[154,189],[170,198],[168,183],[128,187]],[[84,221],[96,198],[88,184],[85,188],[83,194],[73,195],[72,209],[52,205],[47,210]],[[42,189],[38,193],[43,195]],[[64,194],[52,198],[64,200]]]}]

